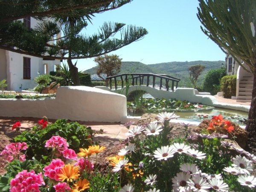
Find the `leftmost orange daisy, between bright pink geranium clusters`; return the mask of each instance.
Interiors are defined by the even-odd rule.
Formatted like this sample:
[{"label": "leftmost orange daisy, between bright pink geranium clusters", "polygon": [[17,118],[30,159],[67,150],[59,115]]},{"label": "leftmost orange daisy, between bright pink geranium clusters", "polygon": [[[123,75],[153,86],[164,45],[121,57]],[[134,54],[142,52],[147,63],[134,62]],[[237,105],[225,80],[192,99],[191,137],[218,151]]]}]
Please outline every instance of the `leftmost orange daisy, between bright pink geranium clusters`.
[{"label": "leftmost orange daisy, between bright pink geranium clusters", "polygon": [[61,173],[58,174],[58,178],[61,181],[67,179],[67,182],[72,181],[73,179],[79,178],[79,166],[72,166],[70,164],[65,165],[60,169]]}]

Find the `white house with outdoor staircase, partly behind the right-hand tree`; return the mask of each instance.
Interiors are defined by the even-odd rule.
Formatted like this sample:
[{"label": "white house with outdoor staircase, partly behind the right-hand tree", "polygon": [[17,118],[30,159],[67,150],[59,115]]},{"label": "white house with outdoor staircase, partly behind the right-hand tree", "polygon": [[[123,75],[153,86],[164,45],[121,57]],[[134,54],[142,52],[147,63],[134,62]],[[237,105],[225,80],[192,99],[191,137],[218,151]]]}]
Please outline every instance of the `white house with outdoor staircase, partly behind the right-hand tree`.
[{"label": "white house with outdoor staircase, partly behind the right-hand tree", "polygon": [[226,56],[226,70],[227,75],[236,75],[236,101],[251,102],[253,74],[244,70],[230,54]]}]

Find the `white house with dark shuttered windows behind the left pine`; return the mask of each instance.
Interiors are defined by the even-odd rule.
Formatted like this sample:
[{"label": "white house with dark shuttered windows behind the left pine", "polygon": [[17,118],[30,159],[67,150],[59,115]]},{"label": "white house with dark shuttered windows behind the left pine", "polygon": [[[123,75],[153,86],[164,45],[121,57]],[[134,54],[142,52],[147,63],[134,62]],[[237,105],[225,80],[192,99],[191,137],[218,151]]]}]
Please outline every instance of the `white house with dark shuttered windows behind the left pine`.
[{"label": "white house with dark shuttered windows behind the left pine", "polygon": [[[32,17],[22,19],[26,27],[33,28],[38,20]],[[37,84],[35,77],[55,71],[60,60],[45,60],[0,49],[0,80],[7,79],[7,90],[32,89]]]}]

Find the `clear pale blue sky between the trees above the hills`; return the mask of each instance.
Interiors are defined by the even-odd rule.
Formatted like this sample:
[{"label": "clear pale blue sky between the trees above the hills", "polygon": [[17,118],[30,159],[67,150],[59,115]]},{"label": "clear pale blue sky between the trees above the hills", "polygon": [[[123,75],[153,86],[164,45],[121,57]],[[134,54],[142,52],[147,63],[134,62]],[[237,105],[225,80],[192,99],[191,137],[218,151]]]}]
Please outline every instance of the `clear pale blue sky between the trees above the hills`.
[{"label": "clear pale blue sky between the trees above the hills", "polygon": [[[197,7],[197,0],[133,0],[118,9],[95,15],[92,24],[89,23],[83,33],[96,33],[105,21],[147,29],[148,35],[142,40],[110,53],[119,55],[122,61],[140,61],[144,64],[223,61],[224,52],[200,29]],[[93,58],[80,59],[77,64],[79,71],[95,66]]]}]

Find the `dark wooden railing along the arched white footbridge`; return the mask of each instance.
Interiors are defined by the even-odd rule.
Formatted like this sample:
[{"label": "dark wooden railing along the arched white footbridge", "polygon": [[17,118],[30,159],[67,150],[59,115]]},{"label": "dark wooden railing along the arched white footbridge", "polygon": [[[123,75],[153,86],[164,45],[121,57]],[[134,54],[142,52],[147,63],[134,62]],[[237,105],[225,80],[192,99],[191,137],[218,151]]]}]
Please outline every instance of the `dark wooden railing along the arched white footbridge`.
[{"label": "dark wooden railing along the arched white footbridge", "polygon": [[[169,76],[169,75],[164,75],[164,74],[152,74],[152,73],[123,73],[119,74],[116,76],[109,76],[106,78],[109,82],[109,87],[112,89],[112,80],[114,81],[115,84],[115,89],[117,89],[117,82],[121,81],[121,87],[124,87],[124,83],[126,85],[130,84],[131,85],[145,85],[148,87],[152,83],[152,86],[156,86],[156,80],[160,81],[160,85],[157,86],[159,89],[162,89],[165,87],[165,90],[169,91],[170,86],[169,82],[171,82],[171,90],[174,91],[174,87],[178,87],[178,82],[180,79],[177,79],[175,77]],[[118,80],[120,79],[120,80]],[[152,79],[152,81],[150,81]],[[163,81],[165,81],[165,86],[163,86]]]}]

